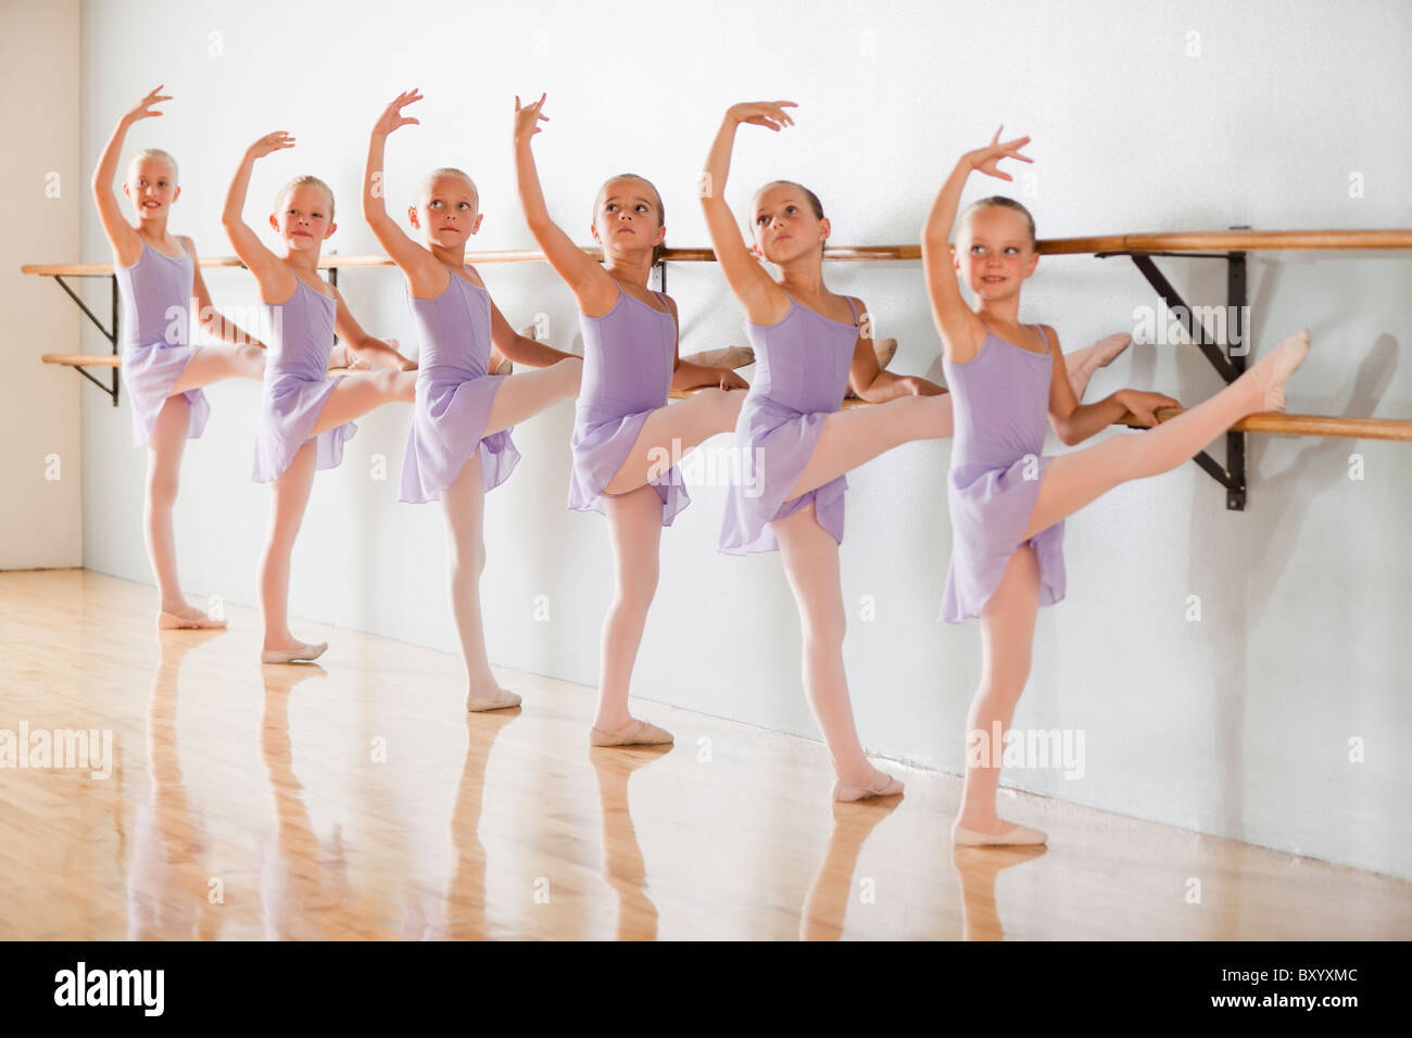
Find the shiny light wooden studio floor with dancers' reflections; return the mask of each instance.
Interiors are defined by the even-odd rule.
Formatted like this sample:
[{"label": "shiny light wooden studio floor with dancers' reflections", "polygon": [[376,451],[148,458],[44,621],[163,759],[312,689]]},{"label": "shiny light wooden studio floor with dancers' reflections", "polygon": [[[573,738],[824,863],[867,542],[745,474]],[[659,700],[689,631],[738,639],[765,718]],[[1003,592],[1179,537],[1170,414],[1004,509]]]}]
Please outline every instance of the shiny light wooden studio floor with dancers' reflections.
[{"label": "shiny light wooden studio floor with dancers' reflections", "polygon": [[[1019,797],[1042,853],[956,850],[960,782],[830,809],[822,747],[655,705],[669,753],[586,746],[592,691],[318,630],[152,627],[154,592],[0,573],[0,729],[110,729],[113,774],[0,770],[0,939],[1179,938],[1412,933],[1412,884]],[[1186,901],[1200,877],[1202,901]]]}]

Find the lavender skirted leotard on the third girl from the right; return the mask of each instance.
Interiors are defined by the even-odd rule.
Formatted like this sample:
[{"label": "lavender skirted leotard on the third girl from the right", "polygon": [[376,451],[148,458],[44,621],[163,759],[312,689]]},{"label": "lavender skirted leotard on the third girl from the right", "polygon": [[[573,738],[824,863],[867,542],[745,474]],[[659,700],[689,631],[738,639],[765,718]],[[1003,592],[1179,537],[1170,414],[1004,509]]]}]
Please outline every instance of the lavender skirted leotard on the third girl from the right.
[{"label": "lavender skirted leotard on the third girl from the right", "polygon": [[[666,407],[676,357],[676,321],[666,297],[654,292],[662,309],[648,306],[621,288],[602,318],[579,315],[583,328],[583,383],[573,408],[569,451],[569,507],[603,513],[603,487],[623,467],[647,417]],[[662,525],[690,504],[682,473],[674,465],[652,479],[662,499]]]}]

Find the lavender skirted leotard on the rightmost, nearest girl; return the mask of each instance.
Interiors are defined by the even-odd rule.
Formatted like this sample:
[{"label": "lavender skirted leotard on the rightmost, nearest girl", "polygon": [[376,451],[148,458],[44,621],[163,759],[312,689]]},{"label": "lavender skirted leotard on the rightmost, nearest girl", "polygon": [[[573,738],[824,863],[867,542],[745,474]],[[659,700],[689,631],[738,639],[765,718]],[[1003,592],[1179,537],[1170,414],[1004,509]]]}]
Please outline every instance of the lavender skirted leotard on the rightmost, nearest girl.
[{"label": "lavender skirted leotard on the rightmost, nearest girl", "polygon": [[[964,364],[942,360],[952,391],[956,439],[947,477],[952,562],[939,620],[980,616],[1005,575],[1010,556],[1035,510],[1039,482],[1052,458],[1045,446],[1053,356],[1035,353],[994,333]],[[1065,593],[1063,521],[1029,538],[1039,558],[1039,604]]]}]

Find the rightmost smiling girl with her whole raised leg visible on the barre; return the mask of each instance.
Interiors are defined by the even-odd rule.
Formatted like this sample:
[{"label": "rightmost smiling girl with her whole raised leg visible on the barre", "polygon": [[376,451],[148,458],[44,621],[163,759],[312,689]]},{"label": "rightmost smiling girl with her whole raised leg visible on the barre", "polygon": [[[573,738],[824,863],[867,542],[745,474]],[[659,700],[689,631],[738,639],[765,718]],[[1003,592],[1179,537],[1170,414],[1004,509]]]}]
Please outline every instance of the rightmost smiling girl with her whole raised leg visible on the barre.
[{"label": "rightmost smiling girl with her whole raised leg visible on the barre", "polygon": [[[949,244],[971,171],[1011,179],[997,164],[1032,161],[1019,153],[1028,141],[1003,143],[997,131],[987,147],[962,155],[922,229],[926,287],[956,408],[947,480],[952,561],[942,619],[980,619],[981,681],[966,730],[987,740],[1001,732],[1000,744],[974,758],[967,737],[962,806],[952,826],[953,842],[963,846],[1046,839],[1001,819],[995,794],[1004,732],[1029,675],[1035,616],[1065,595],[1065,517],[1120,483],[1175,469],[1245,415],[1282,411],[1285,380],[1309,352],[1309,333],[1299,332],[1219,394],[1161,425],[1154,411],[1176,404],[1161,393],[1120,390],[1080,404],[1067,380],[1056,377],[1062,369],[1055,330],[1019,323],[1019,290],[1039,258],[1029,212],[1014,199],[981,199],[962,213],[955,253]],[[974,306],[962,298],[957,273]],[[1156,428],[1041,456],[1046,412],[1059,439],[1075,445],[1128,411]]]}]

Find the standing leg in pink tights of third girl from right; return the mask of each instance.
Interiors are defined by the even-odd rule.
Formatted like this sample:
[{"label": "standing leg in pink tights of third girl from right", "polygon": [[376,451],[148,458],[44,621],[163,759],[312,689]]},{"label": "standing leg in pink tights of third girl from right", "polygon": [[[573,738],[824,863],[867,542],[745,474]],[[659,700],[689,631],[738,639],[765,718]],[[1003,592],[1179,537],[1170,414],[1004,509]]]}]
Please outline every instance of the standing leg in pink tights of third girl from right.
[{"label": "standing leg in pink tights of third girl from right", "polygon": [[[647,610],[657,595],[662,541],[662,499],[650,486],[603,499],[613,538],[613,604],[603,620],[599,657],[596,744],[669,743],[671,734],[634,720],[627,710],[633,664],[642,644]],[[614,739],[616,737],[616,739]]]}]

